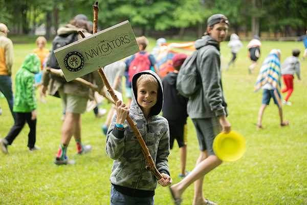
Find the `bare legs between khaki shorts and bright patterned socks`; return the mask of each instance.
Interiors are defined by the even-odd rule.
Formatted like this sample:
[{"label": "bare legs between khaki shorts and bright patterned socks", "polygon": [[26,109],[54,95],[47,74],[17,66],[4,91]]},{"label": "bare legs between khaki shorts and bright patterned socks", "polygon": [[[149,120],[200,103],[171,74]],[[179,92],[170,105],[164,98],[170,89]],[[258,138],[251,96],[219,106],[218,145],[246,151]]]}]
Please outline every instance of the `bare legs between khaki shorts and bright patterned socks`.
[{"label": "bare legs between khaki shorts and bright patterned socks", "polygon": [[69,144],[73,135],[75,139],[81,139],[81,114],[65,113],[61,135],[61,143],[65,145]]}]

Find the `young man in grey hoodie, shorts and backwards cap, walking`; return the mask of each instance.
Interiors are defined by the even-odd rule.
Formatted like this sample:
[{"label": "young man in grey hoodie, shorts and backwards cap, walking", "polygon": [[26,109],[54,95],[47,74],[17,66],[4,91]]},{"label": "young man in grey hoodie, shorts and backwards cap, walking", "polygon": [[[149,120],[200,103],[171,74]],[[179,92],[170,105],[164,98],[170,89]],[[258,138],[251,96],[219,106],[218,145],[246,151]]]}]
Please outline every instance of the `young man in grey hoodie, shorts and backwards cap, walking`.
[{"label": "young man in grey hoodie, shorts and backwards cap, walking", "polygon": [[220,69],[220,43],[227,35],[228,24],[228,19],[223,14],[210,16],[207,21],[207,32],[195,42],[195,48],[199,49],[196,65],[202,86],[190,96],[187,111],[193,121],[201,152],[191,173],[170,187],[176,204],[181,204],[183,192],[193,182],[193,204],[216,204],[203,197],[203,182],[204,176],[222,163],[213,152],[215,136],[221,131],[229,133],[231,129],[231,124],[226,118],[228,110]]}]

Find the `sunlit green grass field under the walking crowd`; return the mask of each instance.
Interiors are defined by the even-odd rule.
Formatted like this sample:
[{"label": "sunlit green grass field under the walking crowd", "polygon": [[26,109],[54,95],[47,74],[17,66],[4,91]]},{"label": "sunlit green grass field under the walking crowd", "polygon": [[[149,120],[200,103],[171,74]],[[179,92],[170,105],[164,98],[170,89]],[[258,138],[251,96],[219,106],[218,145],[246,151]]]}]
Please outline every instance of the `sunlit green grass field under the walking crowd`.
[{"label": "sunlit green grass field under the walking crowd", "polygon": [[[149,40],[147,50],[150,51],[155,39]],[[221,45],[223,65],[231,58],[227,43]],[[243,43],[246,47],[248,42]],[[248,74],[250,60],[245,47],[237,55],[235,68],[223,70],[223,87],[230,112],[228,119],[232,129],[245,136],[247,152],[242,159],[225,162],[206,175],[204,196],[219,204],[307,204],[307,62],[301,64],[302,80],[295,77],[292,106],[283,106],[284,120],[290,120],[290,126],[278,127],[278,110],[271,102],[263,119],[266,129],[256,131],[262,92],[253,93],[256,74]],[[13,81],[26,54],[34,48],[34,43],[14,44]],[[281,61],[291,55],[293,48],[304,49],[301,42],[262,42],[256,73],[273,48],[281,50]],[[82,116],[82,139],[92,145],[93,151],[77,156],[72,140],[68,156],[76,160],[76,165],[56,166],[53,160],[60,142],[61,101],[51,96],[46,100],[46,104],[38,102],[37,109],[36,145],[41,150],[28,152],[26,125],[8,147],[10,154],[0,153],[0,204],[108,204],[111,188],[108,178],[113,160],[105,153],[105,135],[101,131],[105,116],[98,119],[93,112]],[[5,98],[0,98],[0,105],[3,109],[0,137],[3,138],[13,120]],[[105,101],[101,107],[109,109],[111,105]],[[189,119],[187,170],[193,169],[198,155],[198,141]],[[173,183],[180,181],[177,144],[169,156],[169,169]],[[183,199],[183,204],[192,204],[193,186],[184,192]],[[155,202],[173,203],[168,188],[158,186]]]}]

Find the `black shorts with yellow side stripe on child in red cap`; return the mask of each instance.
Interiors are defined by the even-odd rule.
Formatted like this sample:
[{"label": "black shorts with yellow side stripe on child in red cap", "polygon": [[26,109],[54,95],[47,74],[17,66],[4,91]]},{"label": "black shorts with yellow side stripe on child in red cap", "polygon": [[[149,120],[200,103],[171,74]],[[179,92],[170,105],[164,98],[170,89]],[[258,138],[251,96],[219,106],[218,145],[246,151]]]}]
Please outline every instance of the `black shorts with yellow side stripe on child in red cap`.
[{"label": "black shorts with yellow side stripe on child in red cap", "polygon": [[177,140],[181,148],[187,144],[187,124],[185,125],[168,125],[169,126],[169,148],[172,149],[174,139]]}]

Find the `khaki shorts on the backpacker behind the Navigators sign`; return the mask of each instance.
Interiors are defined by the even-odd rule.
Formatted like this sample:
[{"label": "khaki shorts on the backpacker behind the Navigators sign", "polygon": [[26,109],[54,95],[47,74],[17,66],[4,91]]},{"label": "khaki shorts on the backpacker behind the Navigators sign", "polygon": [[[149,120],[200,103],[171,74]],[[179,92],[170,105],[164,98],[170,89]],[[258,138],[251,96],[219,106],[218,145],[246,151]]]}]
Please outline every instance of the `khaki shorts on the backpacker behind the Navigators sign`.
[{"label": "khaki shorts on the backpacker behind the Navigators sign", "polygon": [[62,106],[64,112],[84,114],[87,106],[87,100],[89,98],[63,93],[61,91],[59,91],[59,95],[62,100]]}]

